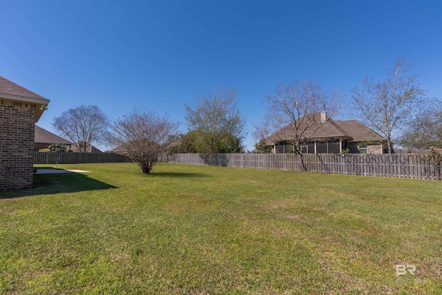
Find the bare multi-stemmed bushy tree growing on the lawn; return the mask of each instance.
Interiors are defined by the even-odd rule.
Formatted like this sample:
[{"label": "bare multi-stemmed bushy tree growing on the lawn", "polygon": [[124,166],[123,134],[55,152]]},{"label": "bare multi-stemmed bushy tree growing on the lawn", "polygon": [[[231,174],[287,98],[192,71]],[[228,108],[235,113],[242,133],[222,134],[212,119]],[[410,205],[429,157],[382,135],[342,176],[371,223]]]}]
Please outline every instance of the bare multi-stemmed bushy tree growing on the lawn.
[{"label": "bare multi-stemmed bushy tree growing on the lawn", "polygon": [[150,173],[158,157],[176,138],[177,127],[167,115],[160,117],[151,111],[134,110],[111,124],[108,142],[136,162],[143,173]]}]

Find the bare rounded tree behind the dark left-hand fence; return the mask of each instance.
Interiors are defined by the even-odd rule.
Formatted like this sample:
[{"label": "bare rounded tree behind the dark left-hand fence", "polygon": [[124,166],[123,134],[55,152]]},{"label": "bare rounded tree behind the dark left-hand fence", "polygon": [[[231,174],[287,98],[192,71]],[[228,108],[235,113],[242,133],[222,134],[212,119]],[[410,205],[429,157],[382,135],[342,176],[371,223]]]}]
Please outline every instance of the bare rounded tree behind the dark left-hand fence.
[{"label": "bare rounded tree behind the dark left-hand fence", "polygon": [[108,122],[108,117],[98,106],[79,106],[54,117],[52,126],[79,151],[86,152],[92,144],[105,142]]}]

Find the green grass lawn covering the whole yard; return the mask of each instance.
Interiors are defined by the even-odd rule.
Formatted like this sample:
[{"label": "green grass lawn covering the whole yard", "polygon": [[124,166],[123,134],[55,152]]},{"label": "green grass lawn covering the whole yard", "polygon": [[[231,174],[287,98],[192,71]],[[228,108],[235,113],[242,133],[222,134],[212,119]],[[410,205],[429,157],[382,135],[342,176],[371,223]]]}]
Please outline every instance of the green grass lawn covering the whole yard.
[{"label": "green grass lawn covering the whole yard", "polygon": [[0,193],[2,294],[442,294],[442,182],[57,168]]}]

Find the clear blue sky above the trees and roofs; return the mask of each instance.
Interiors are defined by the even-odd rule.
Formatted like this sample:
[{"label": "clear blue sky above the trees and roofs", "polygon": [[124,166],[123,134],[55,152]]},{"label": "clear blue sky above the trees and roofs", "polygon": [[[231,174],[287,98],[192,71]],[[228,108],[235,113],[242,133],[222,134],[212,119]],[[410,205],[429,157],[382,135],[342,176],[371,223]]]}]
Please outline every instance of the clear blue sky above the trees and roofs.
[{"label": "clear blue sky above the trees and roofs", "polygon": [[0,1],[0,75],[50,99],[38,125],[95,104],[112,118],[144,108],[181,122],[184,102],[236,88],[247,119],[278,82],[316,79],[349,93],[419,60],[442,98],[442,1]]}]

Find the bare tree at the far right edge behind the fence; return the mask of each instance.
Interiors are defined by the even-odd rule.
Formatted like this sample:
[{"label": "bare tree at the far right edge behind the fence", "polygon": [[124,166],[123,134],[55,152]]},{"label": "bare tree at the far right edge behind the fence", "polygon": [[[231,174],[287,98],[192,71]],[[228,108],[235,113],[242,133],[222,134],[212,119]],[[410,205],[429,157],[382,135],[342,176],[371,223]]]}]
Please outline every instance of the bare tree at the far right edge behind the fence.
[{"label": "bare tree at the far right edge behind the fence", "polygon": [[399,143],[416,149],[428,149],[430,146],[442,146],[442,102],[434,99],[427,108],[416,113]]}]

